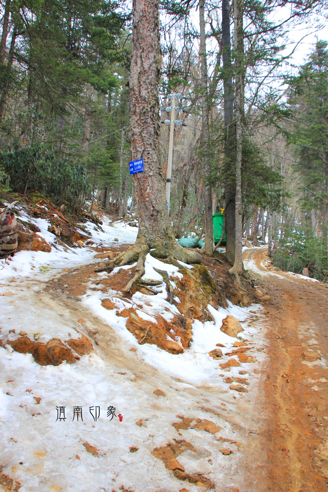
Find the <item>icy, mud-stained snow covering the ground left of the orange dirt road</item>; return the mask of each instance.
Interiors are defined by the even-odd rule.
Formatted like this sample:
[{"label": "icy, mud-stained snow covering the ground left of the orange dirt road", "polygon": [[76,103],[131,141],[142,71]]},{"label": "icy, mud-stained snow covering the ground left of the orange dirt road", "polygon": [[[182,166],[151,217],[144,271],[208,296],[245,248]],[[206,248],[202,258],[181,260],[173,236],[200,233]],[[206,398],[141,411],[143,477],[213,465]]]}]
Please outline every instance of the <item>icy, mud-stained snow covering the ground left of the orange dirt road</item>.
[{"label": "icy, mud-stained snow covering the ground left of the orange dirt road", "polygon": [[[48,222],[28,218],[41,228],[40,235],[51,241]],[[132,243],[137,233],[135,228],[123,223],[111,225],[108,220],[103,224],[105,233],[94,230],[94,224],[87,226],[93,240],[109,248],[118,244],[115,237],[120,244]],[[196,449],[178,457],[187,473],[203,473],[222,490],[240,487],[240,446],[247,448],[249,429],[254,431],[257,425],[250,400],[258,391],[254,369],[259,369],[265,358],[261,319],[254,315],[254,322],[248,323],[251,326],[243,321],[251,321],[250,310],[261,317],[262,307],[230,304],[227,309],[216,310],[209,306],[215,321],[203,324],[195,320],[191,347],[180,355],[169,354],[155,345],[138,345],[125,328],[124,318],[117,316],[115,309],[101,306],[105,294],[91,290],[92,283],[81,302],[52,296],[45,290],[45,282],[58,276],[62,269],[93,261],[91,248],[69,248],[66,252],[56,246],[58,250],[53,248],[51,253],[19,252],[0,272],[1,336],[5,341],[15,339],[23,330],[33,339],[33,333],[39,331],[38,341],[46,343],[54,337],[64,341],[70,335],[88,335],[89,329],[97,330],[98,345],[94,344],[94,352],[76,364],[64,362],[58,367],[39,366],[30,354],[19,354],[8,344],[0,348],[2,473],[20,483],[20,492],[178,492],[183,487],[190,492],[199,491],[195,484],[177,479],[151,455],[155,447],[165,446],[175,438],[191,442]],[[43,265],[50,265],[51,271],[41,274],[38,267]],[[154,267],[166,269],[171,282],[180,275],[177,267],[148,255],[144,277],[162,280]],[[98,277],[102,275],[107,274]],[[154,296],[133,296],[137,313],[152,321],[158,313],[169,319],[177,308],[166,301],[165,283],[155,290],[158,294]],[[117,298],[119,310],[128,304]],[[218,363],[229,357],[209,357],[208,351],[216,343],[226,345],[222,348],[226,353],[237,340],[220,331],[227,314],[242,322],[244,331],[240,336],[260,350],[255,353],[258,363],[222,371]],[[81,318],[83,326],[79,323]],[[248,372],[244,376],[250,383],[248,394],[231,391],[220,376],[236,376],[240,369]],[[165,396],[154,394],[156,389]],[[60,406],[64,407],[65,420],[60,420]],[[74,415],[74,406],[82,407],[83,420],[81,414]],[[96,407],[100,414],[95,420]],[[209,419],[222,429],[216,435],[197,429],[180,430],[179,435],[172,426],[179,421],[177,415]],[[256,435],[252,434],[253,442]],[[133,446],[138,451],[131,453]],[[219,452],[221,448],[229,448],[233,454],[224,456]],[[13,490],[14,487],[15,482]]]}]

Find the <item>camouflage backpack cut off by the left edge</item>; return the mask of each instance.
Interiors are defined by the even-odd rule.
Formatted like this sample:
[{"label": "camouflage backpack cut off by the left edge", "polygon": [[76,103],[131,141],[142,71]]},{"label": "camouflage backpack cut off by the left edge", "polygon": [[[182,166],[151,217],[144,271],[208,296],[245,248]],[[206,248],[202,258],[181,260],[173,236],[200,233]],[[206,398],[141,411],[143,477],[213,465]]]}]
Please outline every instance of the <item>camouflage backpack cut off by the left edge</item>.
[{"label": "camouflage backpack cut off by the left edge", "polygon": [[13,256],[18,246],[18,225],[15,214],[11,211],[17,202],[0,209],[0,260]]}]

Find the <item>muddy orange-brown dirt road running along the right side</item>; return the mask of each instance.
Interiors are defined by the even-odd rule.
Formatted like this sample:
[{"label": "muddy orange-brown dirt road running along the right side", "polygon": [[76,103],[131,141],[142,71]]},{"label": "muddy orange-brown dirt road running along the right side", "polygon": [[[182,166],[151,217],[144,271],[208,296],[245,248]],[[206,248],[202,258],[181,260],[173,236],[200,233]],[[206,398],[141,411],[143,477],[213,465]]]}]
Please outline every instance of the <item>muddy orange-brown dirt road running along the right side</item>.
[{"label": "muddy orange-brown dirt road running along the right side", "polygon": [[268,473],[261,490],[327,491],[328,289],[269,272],[261,264],[264,253],[265,248],[244,253],[245,268],[261,272],[272,298],[267,305],[268,360],[262,369]]}]

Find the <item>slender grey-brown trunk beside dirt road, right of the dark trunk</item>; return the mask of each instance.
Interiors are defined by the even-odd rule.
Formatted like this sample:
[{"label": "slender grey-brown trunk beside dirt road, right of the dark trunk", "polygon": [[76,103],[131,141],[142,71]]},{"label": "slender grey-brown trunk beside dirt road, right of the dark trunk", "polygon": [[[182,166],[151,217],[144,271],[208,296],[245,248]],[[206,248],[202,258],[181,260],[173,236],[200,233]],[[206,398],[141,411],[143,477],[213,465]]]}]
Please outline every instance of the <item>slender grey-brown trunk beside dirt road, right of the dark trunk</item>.
[{"label": "slender grey-brown trunk beside dirt road, right of the dark trunk", "polygon": [[235,195],[235,262],[229,273],[239,279],[242,274],[242,200],[241,200],[241,151],[242,151],[242,115],[243,115],[243,26],[242,0],[234,0],[235,66],[236,66],[236,195]]}]

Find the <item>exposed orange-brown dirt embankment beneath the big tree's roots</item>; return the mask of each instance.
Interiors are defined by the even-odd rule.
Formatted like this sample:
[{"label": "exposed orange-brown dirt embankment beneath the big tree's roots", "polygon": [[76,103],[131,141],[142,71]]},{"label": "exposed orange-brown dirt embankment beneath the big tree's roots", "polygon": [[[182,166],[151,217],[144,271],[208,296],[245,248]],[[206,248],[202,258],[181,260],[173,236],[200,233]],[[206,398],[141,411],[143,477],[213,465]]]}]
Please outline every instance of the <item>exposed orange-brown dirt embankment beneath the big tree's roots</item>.
[{"label": "exposed orange-brown dirt embankment beneath the big tree's roots", "polygon": [[[127,247],[127,246],[126,246]],[[126,249],[120,248],[120,250]],[[115,255],[113,253],[98,253],[96,258],[103,260],[104,255]],[[84,295],[87,291],[88,282],[92,282],[91,290],[116,292],[115,296],[102,300],[102,306],[109,310],[115,310],[115,314],[127,318],[126,328],[134,335],[139,344],[156,344],[159,348],[173,354],[180,354],[188,348],[192,341],[192,323],[195,319],[202,322],[212,320],[207,308],[208,304],[213,307],[227,307],[227,299],[235,304],[248,306],[254,299],[254,290],[250,281],[244,281],[241,286],[236,282],[228,270],[230,264],[218,256],[212,259],[203,256],[203,265],[194,265],[192,275],[188,274],[182,266],[180,272],[183,277],[174,277],[176,285],[174,296],[179,300],[173,300],[179,314],[175,314],[170,321],[164,316],[155,315],[156,322],[147,321],[138,316],[136,307],[127,307],[119,312],[117,301],[130,301],[132,295],[140,291],[149,296],[157,292],[151,287],[151,281],[147,286],[145,283],[134,284],[131,291],[122,294],[126,284],[134,277],[135,267],[121,269],[115,275],[99,278],[94,272],[94,266],[83,266],[74,271],[69,271],[62,277],[50,281],[47,289],[53,289],[64,293],[66,296],[74,297]],[[146,282],[147,283],[147,282]],[[168,288],[168,286],[167,286]],[[169,298],[169,289],[168,289]],[[150,304],[149,304],[150,306]],[[239,330],[240,331],[240,330]],[[92,336],[92,334],[89,334]],[[241,354],[240,354],[241,356]]]}]

